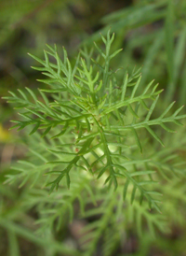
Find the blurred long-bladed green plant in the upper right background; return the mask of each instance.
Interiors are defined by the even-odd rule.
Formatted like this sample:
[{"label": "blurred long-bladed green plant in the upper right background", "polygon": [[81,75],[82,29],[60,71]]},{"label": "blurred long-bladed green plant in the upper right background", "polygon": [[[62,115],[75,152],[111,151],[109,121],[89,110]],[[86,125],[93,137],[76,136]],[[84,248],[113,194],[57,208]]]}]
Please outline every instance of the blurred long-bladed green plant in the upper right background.
[{"label": "blurred long-bladed green plant in the upper right background", "polygon": [[[143,65],[141,85],[155,78],[166,89],[166,103],[176,96],[185,103],[185,1],[135,1],[101,19],[104,36],[112,26],[115,46],[124,47],[121,64]],[[99,41],[100,33],[86,42]],[[179,91],[178,91],[179,88]]]}]

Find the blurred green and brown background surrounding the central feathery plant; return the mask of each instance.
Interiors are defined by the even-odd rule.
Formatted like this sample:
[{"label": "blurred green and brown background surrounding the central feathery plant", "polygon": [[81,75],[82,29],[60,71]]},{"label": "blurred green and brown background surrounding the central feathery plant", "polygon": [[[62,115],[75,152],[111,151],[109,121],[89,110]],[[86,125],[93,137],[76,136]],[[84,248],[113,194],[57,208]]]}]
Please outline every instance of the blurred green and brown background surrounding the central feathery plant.
[{"label": "blurred green and brown background surrounding the central feathery plant", "polygon": [[[64,46],[73,58],[79,47],[91,48],[93,41],[99,43],[100,32],[105,35],[110,27],[115,32],[114,48],[124,49],[116,60],[116,68],[133,69],[134,65],[142,65],[141,83],[155,78],[165,88],[161,107],[172,100],[183,105],[186,99],[185,0],[1,0],[1,97],[9,90],[38,87],[35,79],[41,74],[30,67],[33,60],[27,52],[42,58],[46,43],[57,44],[59,52]],[[16,111],[0,99],[0,255],[46,255],[41,249],[45,242],[35,240],[33,235],[32,210],[27,212],[21,205],[24,192],[3,184],[10,164],[25,152],[24,138],[20,140],[16,131],[8,132],[12,119],[16,119]],[[185,216],[184,208],[183,211]],[[3,222],[5,216],[10,220],[7,224]],[[125,254],[117,255],[184,256],[185,240],[185,227],[177,223],[169,235],[158,235],[153,242],[148,235],[141,240],[129,236]]]}]

